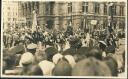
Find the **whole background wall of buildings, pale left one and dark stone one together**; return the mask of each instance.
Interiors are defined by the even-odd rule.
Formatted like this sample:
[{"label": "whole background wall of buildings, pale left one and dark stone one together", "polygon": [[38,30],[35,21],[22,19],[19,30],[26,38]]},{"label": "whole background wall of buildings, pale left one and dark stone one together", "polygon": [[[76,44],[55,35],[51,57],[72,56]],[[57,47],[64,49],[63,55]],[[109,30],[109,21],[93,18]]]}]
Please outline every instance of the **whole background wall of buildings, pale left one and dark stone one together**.
[{"label": "whole background wall of buildings, pale left one and dark stone one together", "polygon": [[[71,3],[71,4],[70,4]],[[83,4],[85,3],[85,4]],[[88,3],[88,5],[86,4]],[[69,12],[71,5],[72,11]],[[8,6],[5,6],[8,5]],[[82,12],[83,6],[88,6],[88,12]],[[96,6],[98,5],[98,7]],[[113,8],[116,28],[124,27],[126,4],[124,2],[114,3]],[[53,23],[51,27],[56,30],[64,30],[71,21],[74,30],[77,28],[94,29],[91,20],[97,20],[96,27],[98,29],[105,28],[108,23],[109,3],[108,2],[36,2],[36,1],[18,1],[3,2],[4,26],[19,24],[18,26],[32,26],[33,10],[37,12],[38,25],[46,28],[49,20]],[[105,7],[106,6],[106,7]],[[97,10],[96,11],[96,7]],[[9,9],[10,8],[10,9]],[[86,7],[85,7],[86,10]],[[9,19],[10,18],[10,19]],[[22,20],[22,21],[21,21]]]}]

